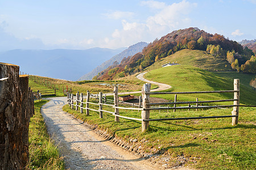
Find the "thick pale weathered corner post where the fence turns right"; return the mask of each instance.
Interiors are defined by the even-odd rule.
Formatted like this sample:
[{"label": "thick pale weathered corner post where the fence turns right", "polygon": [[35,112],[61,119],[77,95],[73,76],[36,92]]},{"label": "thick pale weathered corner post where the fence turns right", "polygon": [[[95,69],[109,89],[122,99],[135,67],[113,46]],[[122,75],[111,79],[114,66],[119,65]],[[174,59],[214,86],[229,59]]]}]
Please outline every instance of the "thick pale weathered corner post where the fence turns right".
[{"label": "thick pale weathered corner post where the fence turns right", "polygon": [[[150,83],[143,84],[142,91],[141,91],[141,93],[142,93],[142,107],[143,107],[143,109],[150,108],[150,106],[147,105],[147,103],[150,103],[150,95],[146,95],[145,94],[146,92],[150,92],[150,88],[151,88],[151,84]],[[142,124],[142,132],[144,132],[149,127],[149,122],[148,121],[143,121],[143,120],[150,118],[150,111],[149,110],[141,111],[141,118],[142,118],[142,122],[141,122],[141,124]]]}]

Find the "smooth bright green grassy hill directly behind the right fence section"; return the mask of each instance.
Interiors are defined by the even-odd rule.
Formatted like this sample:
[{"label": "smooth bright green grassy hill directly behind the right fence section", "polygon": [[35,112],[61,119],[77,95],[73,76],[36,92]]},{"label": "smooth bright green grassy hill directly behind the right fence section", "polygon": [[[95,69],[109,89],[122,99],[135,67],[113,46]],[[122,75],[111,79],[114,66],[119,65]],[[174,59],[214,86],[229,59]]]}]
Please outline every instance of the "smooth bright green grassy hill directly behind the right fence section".
[{"label": "smooth bright green grassy hill directly behind the right fence section", "polygon": [[[176,65],[155,69],[145,74],[145,78],[155,82],[170,84],[172,88],[167,91],[233,90],[233,79],[223,78],[217,74],[192,66]],[[244,79],[241,82],[240,102],[242,104],[256,105],[256,92],[243,85],[246,84]],[[167,100],[174,100],[174,95],[156,96]],[[195,101],[196,97],[199,97],[199,100],[220,100],[223,98],[232,99],[233,94],[177,95],[178,100]]]}]

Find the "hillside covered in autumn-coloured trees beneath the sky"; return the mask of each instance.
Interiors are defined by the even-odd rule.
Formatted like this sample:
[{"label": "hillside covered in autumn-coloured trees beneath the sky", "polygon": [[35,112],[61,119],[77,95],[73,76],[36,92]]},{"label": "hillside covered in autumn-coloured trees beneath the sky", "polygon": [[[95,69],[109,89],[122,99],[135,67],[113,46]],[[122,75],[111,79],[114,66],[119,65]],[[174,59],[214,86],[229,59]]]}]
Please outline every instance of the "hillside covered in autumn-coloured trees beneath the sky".
[{"label": "hillside covered in autumn-coloured trees beneath the sky", "polygon": [[[238,42],[225,39],[224,36],[217,33],[212,35],[199,28],[179,29],[168,33],[160,40],[156,39],[151,42],[141,53],[123,58],[119,65],[112,65],[108,69],[101,71],[97,79],[110,80],[138,73],[155,62],[161,61],[183,49],[191,50],[189,52],[192,52],[192,50],[204,51],[205,53],[196,54],[197,56],[203,55],[196,57],[196,61],[195,57],[193,57],[194,59],[189,58],[190,54],[187,53],[187,57],[185,57],[187,61],[184,62],[202,68],[205,66],[205,69],[209,70],[230,70],[231,65],[232,70],[240,71],[240,67],[250,60],[251,56],[254,56],[252,50],[248,48],[243,49],[242,45],[238,44]],[[175,58],[176,61],[178,58],[178,56]],[[181,60],[179,59],[179,61]],[[205,63],[208,65],[207,67]],[[250,63],[247,62],[246,66],[241,67],[241,70],[253,73],[253,69],[247,69],[253,66],[253,64],[254,58],[251,59]],[[210,69],[210,67],[214,69]]]}]

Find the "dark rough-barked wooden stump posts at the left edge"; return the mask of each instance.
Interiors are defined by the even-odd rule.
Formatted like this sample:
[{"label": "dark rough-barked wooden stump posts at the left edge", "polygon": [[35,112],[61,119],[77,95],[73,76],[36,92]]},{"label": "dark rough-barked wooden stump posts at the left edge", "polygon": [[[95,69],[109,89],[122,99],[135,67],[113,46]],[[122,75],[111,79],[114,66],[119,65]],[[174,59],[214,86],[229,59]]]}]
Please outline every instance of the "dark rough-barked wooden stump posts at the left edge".
[{"label": "dark rough-barked wooden stump posts at the left edge", "polygon": [[0,79],[0,169],[22,169],[28,162],[28,123],[34,100],[28,76],[19,78],[19,66],[0,63]]}]

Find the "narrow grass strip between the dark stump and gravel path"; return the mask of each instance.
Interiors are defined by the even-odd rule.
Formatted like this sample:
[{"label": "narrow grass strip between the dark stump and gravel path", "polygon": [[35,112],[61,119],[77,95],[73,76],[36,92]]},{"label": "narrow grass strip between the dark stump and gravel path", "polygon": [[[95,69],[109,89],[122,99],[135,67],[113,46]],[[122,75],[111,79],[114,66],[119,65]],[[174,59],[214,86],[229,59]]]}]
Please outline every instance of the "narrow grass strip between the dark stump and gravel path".
[{"label": "narrow grass strip between the dark stump and gravel path", "polygon": [[48,100],[35,101],[35,115],[28,132],[30,162],[27,169],[64,169],[63,158],[47,133],[40,108]]}]

